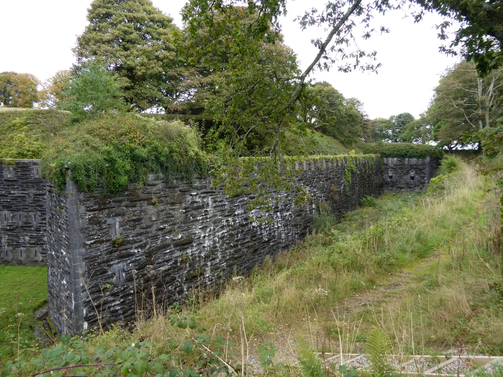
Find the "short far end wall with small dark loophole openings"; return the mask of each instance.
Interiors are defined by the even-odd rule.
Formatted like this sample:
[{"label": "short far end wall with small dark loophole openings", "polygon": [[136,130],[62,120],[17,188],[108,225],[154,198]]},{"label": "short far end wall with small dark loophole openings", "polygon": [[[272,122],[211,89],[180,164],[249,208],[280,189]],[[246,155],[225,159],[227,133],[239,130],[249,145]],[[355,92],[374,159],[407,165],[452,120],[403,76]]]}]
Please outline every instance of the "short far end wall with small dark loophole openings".
[{"label": "short far end wall with small dark loophole openings", "polygon": [[438,157],[382,158],[384,191],[419,191],[426,189],[440,166]]}]

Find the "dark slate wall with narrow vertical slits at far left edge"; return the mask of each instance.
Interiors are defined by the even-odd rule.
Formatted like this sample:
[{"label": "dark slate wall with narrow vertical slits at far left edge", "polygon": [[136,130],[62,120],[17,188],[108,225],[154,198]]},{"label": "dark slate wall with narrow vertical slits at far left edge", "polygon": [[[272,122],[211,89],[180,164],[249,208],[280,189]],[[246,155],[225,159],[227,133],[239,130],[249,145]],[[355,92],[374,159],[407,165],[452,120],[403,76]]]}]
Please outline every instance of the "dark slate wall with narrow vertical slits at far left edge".
[{"label": "dark slate wall with narrow vertical slits at far left edge", "polygon": [[45,266],[45,180],[40,160],[0,160],[0,264]]}]

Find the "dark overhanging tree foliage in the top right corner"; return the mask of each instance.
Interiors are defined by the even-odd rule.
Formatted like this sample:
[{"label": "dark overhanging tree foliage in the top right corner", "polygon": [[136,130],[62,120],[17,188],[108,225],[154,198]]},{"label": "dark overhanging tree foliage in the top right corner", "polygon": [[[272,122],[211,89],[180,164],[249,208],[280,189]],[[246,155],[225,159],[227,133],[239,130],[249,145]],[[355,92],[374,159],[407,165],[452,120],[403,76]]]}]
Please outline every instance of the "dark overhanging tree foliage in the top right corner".
[{"label": "dark overhanging tree foliage in the top right corner", "polygon": [[[503,64],[503,12],[500,0],[414,0],[427,11],[436,11],[448,21],[438,26],[439,37],[448,39],[446,28],[454,21],[460,24],[450,46],[441,51],[456,55],[461,46],[462,55],[473,61],[483,76]],[[423,12],[415,15],[422,18]]]}]

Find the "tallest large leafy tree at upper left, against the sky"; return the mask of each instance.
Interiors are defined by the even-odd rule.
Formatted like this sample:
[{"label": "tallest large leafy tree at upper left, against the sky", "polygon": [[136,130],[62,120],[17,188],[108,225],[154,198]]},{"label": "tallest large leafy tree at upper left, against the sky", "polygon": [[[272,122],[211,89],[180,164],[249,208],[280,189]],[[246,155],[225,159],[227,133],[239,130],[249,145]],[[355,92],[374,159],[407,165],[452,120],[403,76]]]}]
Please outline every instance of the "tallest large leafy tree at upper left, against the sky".
[{"label": "tallest large leafy tree at upper left, against the sky", "polygon": [[77,63],[94,59],[123,81],[126,102],[136,110],[165,108],[177,99],[173,20],[150,0],[94,0],[89,25],[77,38]]}]

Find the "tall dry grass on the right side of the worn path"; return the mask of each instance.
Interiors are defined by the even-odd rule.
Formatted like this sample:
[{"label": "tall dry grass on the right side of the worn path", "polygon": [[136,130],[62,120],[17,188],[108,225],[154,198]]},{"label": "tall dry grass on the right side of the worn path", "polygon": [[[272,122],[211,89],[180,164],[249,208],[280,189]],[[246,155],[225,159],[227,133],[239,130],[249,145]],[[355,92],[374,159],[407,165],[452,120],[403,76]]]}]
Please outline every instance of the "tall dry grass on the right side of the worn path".
[{"label": "tall dry grass on the right side of the worn path", "polygon": [[[454,232],[428,264],[413,270],[417,281],[404,297],[384,307],[372,307],[364,321],[391,334],[397,353],[450,349],[503,354],[498,193],[494,187],[482,185],[473,172],[465,169],[464,174],[467,180],[451,182],[446,193],[435,198],[437,211],[443,213],[440,219],[447,222],[449,214],[456,215],[451,221],[456,225]],[[479,200],[470,204],[468,199],[474,194]],[[451,199],[457,204],[453,206]],[[370,300],[372,293],[368,295]]]}]

